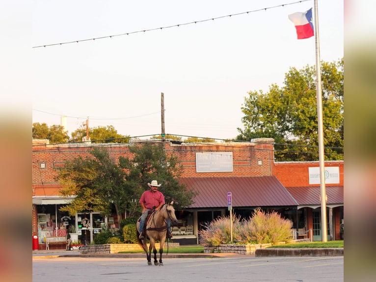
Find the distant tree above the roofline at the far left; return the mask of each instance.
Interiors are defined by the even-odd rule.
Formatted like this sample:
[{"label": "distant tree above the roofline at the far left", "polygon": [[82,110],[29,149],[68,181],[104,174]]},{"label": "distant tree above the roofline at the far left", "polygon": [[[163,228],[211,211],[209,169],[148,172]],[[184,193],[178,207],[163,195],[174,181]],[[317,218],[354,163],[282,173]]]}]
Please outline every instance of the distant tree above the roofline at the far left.
[{"label": "distant tree above the roofline at the far left", "polygon": [[65,143],[69,141],[69,136],[61,125],[51,125],[34,122],[32,124],[33,139],[48,139],[51,143]]}]

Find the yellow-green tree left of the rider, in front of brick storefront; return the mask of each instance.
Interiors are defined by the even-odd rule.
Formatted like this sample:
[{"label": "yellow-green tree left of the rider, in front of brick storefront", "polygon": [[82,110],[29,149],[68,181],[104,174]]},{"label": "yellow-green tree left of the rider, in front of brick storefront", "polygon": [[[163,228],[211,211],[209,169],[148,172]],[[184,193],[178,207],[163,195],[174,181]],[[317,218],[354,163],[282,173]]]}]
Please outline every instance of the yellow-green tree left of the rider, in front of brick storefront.
[{"label": "yellow-green tree left of the rider, in front of brick storefront", "polygon": [[109,156],[106,148],[94,147],[93,157],[76,158],[59,172],[61,194],[76,198],[60,210],[71,216],[77,212],[100,211],[109,215],[114,206],[118,222],[125,203],[134,198],[132,187],[125,183],[125,173]]}]

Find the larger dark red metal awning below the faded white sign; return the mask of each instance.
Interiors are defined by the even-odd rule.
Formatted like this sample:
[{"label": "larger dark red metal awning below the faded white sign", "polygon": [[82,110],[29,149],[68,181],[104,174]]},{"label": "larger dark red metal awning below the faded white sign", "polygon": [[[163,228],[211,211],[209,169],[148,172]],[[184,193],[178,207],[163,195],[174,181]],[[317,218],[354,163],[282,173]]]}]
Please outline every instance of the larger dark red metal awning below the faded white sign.
[{"label": "larger dark red metal awning below the faded white sign", "polygon": [[297,205],[275,176],[188,177],[179,182],[198,192],[191,208],[226,207],[227,192],[233,207]]}]

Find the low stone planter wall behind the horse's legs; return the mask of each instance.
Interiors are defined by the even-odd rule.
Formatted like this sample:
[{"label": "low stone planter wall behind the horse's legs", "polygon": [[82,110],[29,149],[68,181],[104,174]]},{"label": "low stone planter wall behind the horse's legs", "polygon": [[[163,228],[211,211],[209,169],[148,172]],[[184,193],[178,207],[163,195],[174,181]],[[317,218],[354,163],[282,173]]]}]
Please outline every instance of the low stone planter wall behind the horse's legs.
[{"label": "low stone planter wall behind the horse's legs", "polygon": [[[147,244],[149,247],[149,244]],[[179,248],[179,243],[168,243],[168,248]],[[156,243],[156,248],[159,250],[160,243]],[[167,243],[164,243],[163,249],[167,248]],[[138,244],[104,244],[104,245],[87,245],[81,247],[81,254],[117,254],[119,252],[142,251]]]}]

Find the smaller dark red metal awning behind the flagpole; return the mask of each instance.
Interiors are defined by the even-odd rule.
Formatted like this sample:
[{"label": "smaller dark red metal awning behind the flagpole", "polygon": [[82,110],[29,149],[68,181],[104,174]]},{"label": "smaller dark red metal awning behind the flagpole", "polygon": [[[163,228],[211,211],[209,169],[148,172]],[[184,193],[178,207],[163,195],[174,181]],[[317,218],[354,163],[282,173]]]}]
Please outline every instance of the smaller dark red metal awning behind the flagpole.
[{"label": "smaller dark red metal awning behind the flagpole", "polygon": [[[320,186],[286,187],[299,205],[320,205]],[[344,203],[343,186],[325,186],[327,204]]]}]

